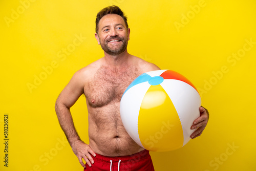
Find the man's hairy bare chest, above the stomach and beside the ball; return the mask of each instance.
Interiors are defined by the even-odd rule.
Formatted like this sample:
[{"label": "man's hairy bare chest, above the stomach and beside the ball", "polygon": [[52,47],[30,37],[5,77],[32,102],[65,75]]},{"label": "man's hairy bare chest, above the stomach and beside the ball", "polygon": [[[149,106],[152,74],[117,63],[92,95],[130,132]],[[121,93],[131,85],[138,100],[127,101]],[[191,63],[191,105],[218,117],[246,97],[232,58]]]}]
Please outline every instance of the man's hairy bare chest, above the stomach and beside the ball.
[{"label": "man's hairy bare chest, above the stomach and beside the ball", "polygon": [[120,102],[125,89],[139,76],[136,68],[127,70],[100,68],[84,90],[92,108]]}]

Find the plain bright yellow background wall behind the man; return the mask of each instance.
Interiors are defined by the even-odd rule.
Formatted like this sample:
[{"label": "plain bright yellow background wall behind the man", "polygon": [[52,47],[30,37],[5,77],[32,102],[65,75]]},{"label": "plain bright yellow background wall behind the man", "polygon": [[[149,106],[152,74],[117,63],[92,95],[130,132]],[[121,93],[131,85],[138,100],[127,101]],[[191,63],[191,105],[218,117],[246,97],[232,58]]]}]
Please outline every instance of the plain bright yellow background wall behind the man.
[{"label": "plain bright yellow background wall behind the man", "polygon": [[[256,170],[256,44],[246,41],[256,42],[254,0],[0,1],[0,170],[82,170],[54,104],[77,70],[103,56],[94,37],[95,18],[113,4],[128,17],[128,51],[186,76],[210,112],[200,138],[176,151],[151,153],[155,169]],[[83,37],[79,46],[73,45],[79,43],[76,36]],[[236,53],[241,59],[232,58]],[[44,80],[29,89],[39,76]],[[71,112],[88,142],[84,96]],[[4,114],[9,114],[8,168]]]}]

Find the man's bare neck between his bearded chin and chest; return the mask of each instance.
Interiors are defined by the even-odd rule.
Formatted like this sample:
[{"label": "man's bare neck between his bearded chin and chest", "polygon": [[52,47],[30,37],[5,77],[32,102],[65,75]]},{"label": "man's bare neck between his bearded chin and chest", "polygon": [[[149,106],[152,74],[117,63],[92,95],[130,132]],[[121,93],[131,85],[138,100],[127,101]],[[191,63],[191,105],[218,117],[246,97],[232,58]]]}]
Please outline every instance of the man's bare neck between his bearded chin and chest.
[{"label": "man's bare neck between his bearded chin and chest", "polygon": [[106,65],[108,67],[121,67],[127,64],[127,59],[129,58],[130,54],[127,52],[127,49],[119,55],[113,56],[110,54],[105,53],[104,59]]}]

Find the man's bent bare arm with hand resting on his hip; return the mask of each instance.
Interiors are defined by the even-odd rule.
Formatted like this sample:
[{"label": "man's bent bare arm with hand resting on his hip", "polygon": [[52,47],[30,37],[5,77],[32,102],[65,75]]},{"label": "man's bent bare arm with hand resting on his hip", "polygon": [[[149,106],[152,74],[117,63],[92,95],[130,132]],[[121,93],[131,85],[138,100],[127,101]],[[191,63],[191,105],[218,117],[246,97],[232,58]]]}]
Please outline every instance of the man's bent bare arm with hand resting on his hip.
[{"label": "man's bent bare arm with hand resting on his hip", "polygon": [[82,158],[89,166],[91,166],[91,163],[94,163],[94,161],[90,154],[93,156],[96,154],[90,146],[81,141],[78,136],[70,113],[70,108],[83,94],[84,80],[82,71],[80,70],[76,72],[68,85],[62,90],[55,103],[55,111],[61,129],[65,133],[73,152],[78,157],[78,160],[83,167],[86,165],[82,162]]}]

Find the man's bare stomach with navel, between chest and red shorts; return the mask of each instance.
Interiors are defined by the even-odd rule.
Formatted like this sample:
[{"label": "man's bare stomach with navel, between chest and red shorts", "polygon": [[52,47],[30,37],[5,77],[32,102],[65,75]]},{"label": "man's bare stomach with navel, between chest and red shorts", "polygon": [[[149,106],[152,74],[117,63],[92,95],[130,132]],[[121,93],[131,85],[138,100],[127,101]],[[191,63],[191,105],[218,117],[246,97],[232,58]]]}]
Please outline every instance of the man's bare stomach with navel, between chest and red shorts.
[{"label": "man's bare stomach with navel, between chest and red shorts", "polygon": [[144,149],[126,132],[119,110],[114,113],[115,110],[111,110],[112,113],[96,110],[90,109],[88,115],[89,145],[95,153],[115,157],[132,155]]}]

